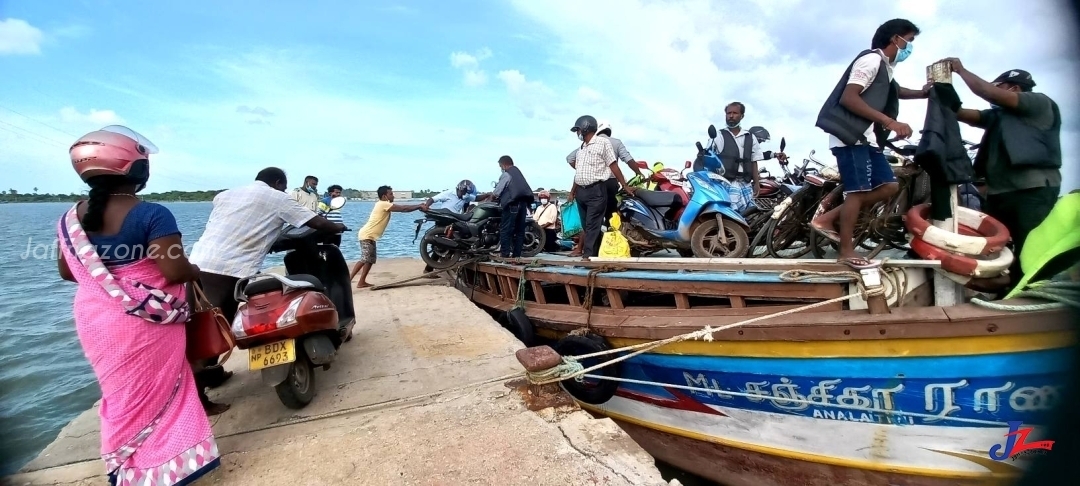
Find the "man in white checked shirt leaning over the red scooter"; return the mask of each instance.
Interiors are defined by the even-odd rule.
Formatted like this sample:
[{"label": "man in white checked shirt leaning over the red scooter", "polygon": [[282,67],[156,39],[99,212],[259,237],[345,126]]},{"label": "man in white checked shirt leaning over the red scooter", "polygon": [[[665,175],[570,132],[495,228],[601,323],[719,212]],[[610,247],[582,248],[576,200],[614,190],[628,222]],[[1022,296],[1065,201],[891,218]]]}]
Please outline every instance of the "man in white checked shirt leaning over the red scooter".
[{"label": "man in white checked shirt leaning over the red scooter", "polygon": [[[262,260],[284,225],[337,232],[346,230],[345,225],[330,222],[299,205],[285,193],[287,187],[284,171],[267,167],[258,173],[254,183],[217,194],[214,197],[214,210],[210,213],[206,229],[191,247],[188,259],[199,266],[199,284],[206,299],[219,307],[230,323],[238,307],[233,298],[237,282],[259,272]],[[195,364],[197,379],[200,378],[200,368],[215,364],[217,359],[207,361],[208,363]],[[228,378],[220,373],[219,366],[206,372],[210,373],[203,373],[201,382],[213,381],[211,374],[214,372]],[[198,388],[208,411],[227,407],[210,403],[203,392],[203,384]]]}]

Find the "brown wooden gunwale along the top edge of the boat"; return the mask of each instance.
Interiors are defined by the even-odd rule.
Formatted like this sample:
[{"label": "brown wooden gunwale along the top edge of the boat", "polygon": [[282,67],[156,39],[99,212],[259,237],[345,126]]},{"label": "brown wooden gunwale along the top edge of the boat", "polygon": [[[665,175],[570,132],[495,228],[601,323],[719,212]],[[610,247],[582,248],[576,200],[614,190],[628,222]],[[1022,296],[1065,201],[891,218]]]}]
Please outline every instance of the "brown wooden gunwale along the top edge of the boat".
[{"label": "brown wooden gunwale along the top edge of the boat", "polygon": [[[478,265],[483,266],[484,264]],[[488,271],[503,278],[521,278],[521,270],[512,270],[501,266],[488,266],[487,269],[477,267],[477,270]],[[516,271],[516,274],[510,274],[511,271]],[[588,280],[582,276],[557,273],[536,272],[529,274],[528,272],[529,270],[526,270],[526,280],[532,282],[543,282],[549,281],[549,279],[529,279],[529,276],[550,276],[550,281],[553,283],[569,279],[576,282],[570,283],[570,285],[584,286],[584,282]],[[602,279],[602,276],[594,279],[596,287],[604,287],[600,284],[612,283]],[[619,284],[632,284],[633,282],[635,280],[623,280]],[[829,287],[845,284],[780,283],[755,285]],[[459,279],[455,280],[455,286],[481,307],[509,311],[516,303],[514,296],[503,297],[483,288],[474,288]],[[829,293],[822,295],[819,299],[836,296]],[[1010,299],[1009,302],[1024,305],[1037,303],[1038,301]],[[665,339],[699,330],[705,325],[717,327],[798,306],[799,303],[791,302],[778,306],[690,309],[638,307],[616,309],[595,306],[589,310],[572,303],[539,303],[526,300],[525,312],[538,327],[549,327],[553,330],[589,327],[595,333],[608,337]],[[872,314],[864,309],[838,310],[838,307],[839,303],[832,310],[808,310],[800,313],[800,319],[797,321],[791,319],[783,322],[767,320],[720,330],[714,335],[714,339],[757,341],[888,340],[1075,332],[1072,316],[1068,310],[1064,309],[1012,312],[962,303],[950,307],[892,307],[889,313]],[[660,313],[663,315],[654,315]]]}]

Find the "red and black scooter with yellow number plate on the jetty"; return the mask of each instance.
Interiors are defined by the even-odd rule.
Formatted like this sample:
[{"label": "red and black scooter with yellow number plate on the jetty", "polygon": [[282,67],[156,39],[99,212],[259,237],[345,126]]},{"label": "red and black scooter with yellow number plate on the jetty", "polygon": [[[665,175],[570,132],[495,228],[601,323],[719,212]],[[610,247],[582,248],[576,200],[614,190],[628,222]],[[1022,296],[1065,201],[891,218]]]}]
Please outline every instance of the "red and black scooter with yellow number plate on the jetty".
[{"label": "red and black scooter with yellow number plate on the jetty", "polygon": [[[345,198],[330,201],[333,210],[343,205]],[[335,234],[287,227],[270,248],[286,252],[285,275],[241,279],[233,293],[237,348],[247,350],[247,368],[261,370],[262,382],[289,408],[311,403],[314,368],[329,369],[356,323],[349,266],[327,242]]]}]

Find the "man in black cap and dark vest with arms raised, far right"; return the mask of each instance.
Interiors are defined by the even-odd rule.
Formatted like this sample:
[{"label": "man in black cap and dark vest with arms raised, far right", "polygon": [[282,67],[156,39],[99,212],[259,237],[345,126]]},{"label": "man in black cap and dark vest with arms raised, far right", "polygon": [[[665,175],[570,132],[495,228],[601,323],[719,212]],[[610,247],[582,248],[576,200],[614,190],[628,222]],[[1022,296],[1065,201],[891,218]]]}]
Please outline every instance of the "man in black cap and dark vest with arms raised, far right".
[{"label": "man in black cap and dark vest with arms raised, far right", "polygon": [[986,82],[950,57],[953,72],[971,92],[991,106],[961,108],[957,119],[984,129],[975,176],[986,180],[985,213],[1009,228],[1015,259],[1009,269],[1013,284],[1023,278],[1020,252],[1027,233],[1039,226],[1062,189],[1062,116],[1057,104],[1035,93],[1035,80],[1023,69],[1010,69]]}]

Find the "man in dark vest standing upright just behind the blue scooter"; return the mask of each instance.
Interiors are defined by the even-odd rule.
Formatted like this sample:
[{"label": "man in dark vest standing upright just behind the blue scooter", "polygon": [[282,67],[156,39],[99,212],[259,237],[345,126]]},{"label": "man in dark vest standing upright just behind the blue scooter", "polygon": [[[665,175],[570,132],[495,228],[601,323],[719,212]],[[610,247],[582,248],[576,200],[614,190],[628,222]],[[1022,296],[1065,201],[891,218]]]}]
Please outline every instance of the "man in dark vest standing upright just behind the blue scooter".
[{"label": "man in dark vest standing upright just behind the blue scooter", "polygon": [[[743,211],[754,205],[754,198],[760,191],[761,174],[758,172],[757,163],[762,160],[772,159],[772,152],[761,152],[760,140],[757,136],[742,130],[742,120],[746,116],[746,105],[732,102],[724,108],[725,122],[727,127],[717,133],[717,139],[713,140],[716,148],[716,156],[724,164],[724,178],[731,183],[728,194],[735,211]],[[786,160],[787,156],[777,153],[780,160]]]}]

